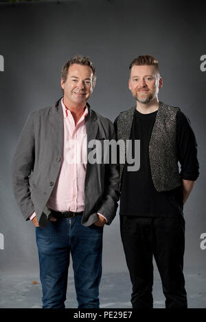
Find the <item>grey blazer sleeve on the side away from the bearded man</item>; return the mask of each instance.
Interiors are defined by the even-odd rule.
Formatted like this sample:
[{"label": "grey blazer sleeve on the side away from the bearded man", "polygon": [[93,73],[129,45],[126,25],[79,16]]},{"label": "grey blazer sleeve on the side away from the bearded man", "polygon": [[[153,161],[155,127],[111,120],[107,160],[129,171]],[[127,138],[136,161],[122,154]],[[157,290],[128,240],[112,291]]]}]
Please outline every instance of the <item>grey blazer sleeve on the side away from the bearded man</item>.
[{"label": "grey blazer sleeve on the side away from the bearded man", "polygon": [[34,167],[34,144],[34,127],[31,112],[19,137],[12,160],[14,196],[26,220],[34,212],[29,183],[29,177]]}]

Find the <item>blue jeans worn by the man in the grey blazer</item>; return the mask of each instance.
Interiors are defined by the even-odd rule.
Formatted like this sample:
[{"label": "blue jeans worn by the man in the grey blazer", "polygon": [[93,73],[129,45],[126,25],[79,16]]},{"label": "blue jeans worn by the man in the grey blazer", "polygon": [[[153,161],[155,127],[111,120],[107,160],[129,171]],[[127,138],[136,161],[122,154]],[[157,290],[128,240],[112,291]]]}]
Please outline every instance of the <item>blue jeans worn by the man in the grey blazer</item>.
[{"label": "blue jeans worn by the man in the grey blazer", "polygon": [[78,308],[100,306],[103,227],[85,227],[81,218],[62,218],[45,228],[36,227],[43,308],[65,308],[70,251]]}]

